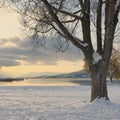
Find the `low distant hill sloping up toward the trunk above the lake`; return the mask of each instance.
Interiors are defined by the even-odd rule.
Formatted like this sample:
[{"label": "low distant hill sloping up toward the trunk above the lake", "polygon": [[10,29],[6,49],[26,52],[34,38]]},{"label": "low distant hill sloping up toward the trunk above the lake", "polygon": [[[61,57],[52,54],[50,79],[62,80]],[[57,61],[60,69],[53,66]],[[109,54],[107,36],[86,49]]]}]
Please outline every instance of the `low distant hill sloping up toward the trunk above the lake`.
[{"label": "low distant hill sloping up toward the trunk above the lake", "polygon": [[89,78],[90,75],[85,71],[77,71],[72,73],[66,73],[66,74],[59,74],[59,75],[44,75],[37,78]]}]

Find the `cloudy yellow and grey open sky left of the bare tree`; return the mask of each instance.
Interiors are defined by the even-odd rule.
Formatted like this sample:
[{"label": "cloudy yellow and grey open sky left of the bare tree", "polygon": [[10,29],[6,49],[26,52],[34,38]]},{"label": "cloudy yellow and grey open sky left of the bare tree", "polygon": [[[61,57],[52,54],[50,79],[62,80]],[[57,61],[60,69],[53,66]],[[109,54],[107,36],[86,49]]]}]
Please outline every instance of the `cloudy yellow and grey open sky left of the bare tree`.
[{"label": "cloudy yellow and grey open sky left of the bare tree", "polygon": [[56,52],[56,42],[35,49],[25,37],[16,13],[0,8],[0,77],[66,73],[82,69],[82,55],[70,45],[64,53]]}]

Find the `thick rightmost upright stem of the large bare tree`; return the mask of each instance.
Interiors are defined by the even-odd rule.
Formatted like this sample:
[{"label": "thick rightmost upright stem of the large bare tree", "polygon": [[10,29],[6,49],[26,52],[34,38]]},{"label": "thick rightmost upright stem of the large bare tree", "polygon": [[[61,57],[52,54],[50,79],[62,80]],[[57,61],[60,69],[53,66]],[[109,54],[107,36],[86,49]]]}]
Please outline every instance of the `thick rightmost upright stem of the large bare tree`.
[{"label": "thick rightmost upright stem of the large bare tree", "polygon": [[105,38],[104,38],[104,52],[103,59],[106,66],[109,64],[109,60],[112,54],[113,39],[115,34],[115,28],[117,25],[115,10],[116,0],[107,0],[105,6]]}]

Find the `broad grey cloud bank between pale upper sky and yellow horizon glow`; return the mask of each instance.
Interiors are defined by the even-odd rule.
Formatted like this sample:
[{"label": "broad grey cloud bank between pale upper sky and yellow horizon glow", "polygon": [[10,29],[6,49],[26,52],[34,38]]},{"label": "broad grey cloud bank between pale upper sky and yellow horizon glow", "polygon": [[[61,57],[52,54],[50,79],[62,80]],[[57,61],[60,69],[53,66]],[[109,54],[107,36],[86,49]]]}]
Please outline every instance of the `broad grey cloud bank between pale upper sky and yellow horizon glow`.
[{"label": "broad grey cloud bank between pale upper sky and yellow horizon glow", "polygon": [[21,61],[32,65],[55,65],[61,60],[77,61],[81,59],[78,50],[71,44],[65,52],[56,52],[54,47],[56,40],[51,37],[46,39],[44,47],[35,49],[32,43],[33,40],[29,37],[0,40],[0,66],[19,66]]}]

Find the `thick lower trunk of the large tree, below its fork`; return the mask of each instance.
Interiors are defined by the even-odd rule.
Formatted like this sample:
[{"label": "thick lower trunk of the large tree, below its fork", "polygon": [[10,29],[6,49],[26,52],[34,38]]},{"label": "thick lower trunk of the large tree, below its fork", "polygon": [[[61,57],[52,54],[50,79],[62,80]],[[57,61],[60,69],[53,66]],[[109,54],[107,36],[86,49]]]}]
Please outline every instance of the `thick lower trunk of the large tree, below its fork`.
[{"label": "thick lower trunk of the large tree, below its fork", "polygon": [[94,70],[91,71],[91,101],[99,98],[108,100],[106,71],[102,64],[95,65]]}]

